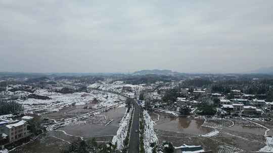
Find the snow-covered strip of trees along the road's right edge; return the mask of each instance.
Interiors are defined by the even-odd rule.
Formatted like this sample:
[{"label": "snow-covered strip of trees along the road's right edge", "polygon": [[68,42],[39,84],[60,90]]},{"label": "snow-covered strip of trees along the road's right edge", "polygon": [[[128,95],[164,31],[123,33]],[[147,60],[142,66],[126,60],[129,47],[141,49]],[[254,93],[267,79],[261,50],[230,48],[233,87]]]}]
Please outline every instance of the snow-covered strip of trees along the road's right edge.
[{"label": "snow-covered strip of trees along the road's right edge", "polygon": [[156,132],[154,131],[154,121],[151,119],[150,115],[146,110],[143,111],[143,118],[145,121],[144,126],[144,148],[146,153],[152,153],[153,147],[151,147],[151,143],[158,143],[158,138],[156,136]]}]

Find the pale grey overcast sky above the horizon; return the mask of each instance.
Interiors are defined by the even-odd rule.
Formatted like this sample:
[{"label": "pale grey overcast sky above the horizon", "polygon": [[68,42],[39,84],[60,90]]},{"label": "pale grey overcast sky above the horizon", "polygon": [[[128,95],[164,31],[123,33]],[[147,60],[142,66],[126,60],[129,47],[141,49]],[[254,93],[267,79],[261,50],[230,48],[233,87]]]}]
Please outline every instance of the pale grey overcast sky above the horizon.
[{"label": "pale grey overcast sky above the horizon", "polygon": [[273,65],[273,1],[0,0],[0,71]]}]

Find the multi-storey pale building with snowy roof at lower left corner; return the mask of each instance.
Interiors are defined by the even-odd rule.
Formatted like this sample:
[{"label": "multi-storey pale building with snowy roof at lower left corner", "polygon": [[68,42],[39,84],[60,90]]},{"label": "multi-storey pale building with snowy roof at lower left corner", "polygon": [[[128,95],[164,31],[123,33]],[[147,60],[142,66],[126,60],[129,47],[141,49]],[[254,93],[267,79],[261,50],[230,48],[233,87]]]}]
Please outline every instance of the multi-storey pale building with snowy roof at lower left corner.
[{"label": "multi-storey pale building with snowy roof at lower left corner", "polygon": [[28,137],[27,121],[32,119],[31,116],[23,116],[21,120],[0,120],[0,144],[6,145]]}]

